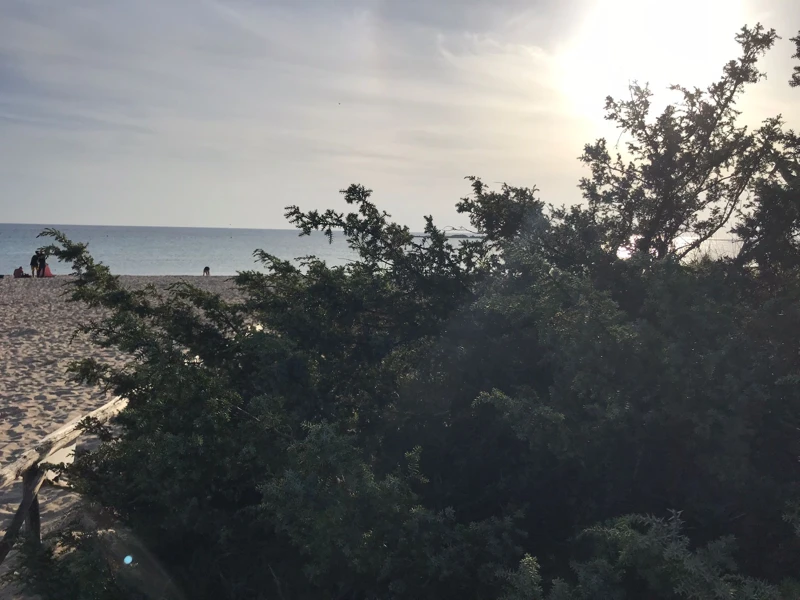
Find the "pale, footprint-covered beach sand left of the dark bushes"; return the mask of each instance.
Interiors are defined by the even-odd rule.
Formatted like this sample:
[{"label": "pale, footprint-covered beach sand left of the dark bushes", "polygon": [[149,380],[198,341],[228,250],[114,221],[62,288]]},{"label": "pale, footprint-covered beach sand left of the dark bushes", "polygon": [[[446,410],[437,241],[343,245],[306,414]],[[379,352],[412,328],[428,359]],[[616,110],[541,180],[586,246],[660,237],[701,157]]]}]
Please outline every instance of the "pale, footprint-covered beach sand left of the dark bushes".
[{"label": "pale, footprint-covered beach sand left of the dark bushes", "polygon": [[[130,287],[147,283],[161,287],[184,280],[228,299],[236,297],[227,277],[121,279]],[[67,365],[76,358],[94,356],[112,363],[119,359],[113,350],[97,348],[85,339],[71,339],[81,320],[100,313],[64,299],[68,280],[13,279],[8,275],[0,279],[0,466],[12,462],[48,433],[109,400],[97,389],[67,380]],[[47,486],[40,496],[44,531],[65,516],[76,501],[74,494]],[[0,531],[5,532],[20,500],[19,482],[0,488]],[[0,600],[11,597],[16,596],[0,592]]]}]

